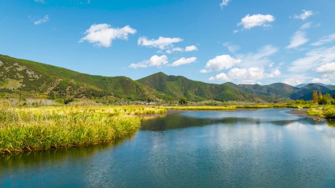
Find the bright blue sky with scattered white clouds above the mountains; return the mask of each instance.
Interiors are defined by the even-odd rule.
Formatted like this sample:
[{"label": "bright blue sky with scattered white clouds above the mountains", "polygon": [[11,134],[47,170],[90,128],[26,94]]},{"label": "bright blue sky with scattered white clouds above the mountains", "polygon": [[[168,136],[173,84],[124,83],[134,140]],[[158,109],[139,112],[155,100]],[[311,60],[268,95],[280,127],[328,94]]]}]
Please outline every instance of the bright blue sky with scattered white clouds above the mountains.
[{"label": "bright blue sky with scattered white clouds above the mountains", "polygon": [[334,0],[1,0],[0,54],[133,80],[335,84]]}]

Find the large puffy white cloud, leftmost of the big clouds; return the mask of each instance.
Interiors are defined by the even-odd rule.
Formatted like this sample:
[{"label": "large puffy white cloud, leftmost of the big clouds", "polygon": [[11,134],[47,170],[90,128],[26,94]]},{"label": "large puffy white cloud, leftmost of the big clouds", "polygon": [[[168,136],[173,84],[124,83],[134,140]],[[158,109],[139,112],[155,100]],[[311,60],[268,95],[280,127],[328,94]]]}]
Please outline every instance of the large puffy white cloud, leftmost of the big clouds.
[{"label": "large puffy white cloud, leftmost of the big clouds", "polygon": [[94,24],[85,31],[86,36],[79,42],[88,41],[97,46],[110,47],[115,39],[127,40],[129,34],[135,34],[136,29],[126,25],[122,28],[112,28],[107,23]]}]

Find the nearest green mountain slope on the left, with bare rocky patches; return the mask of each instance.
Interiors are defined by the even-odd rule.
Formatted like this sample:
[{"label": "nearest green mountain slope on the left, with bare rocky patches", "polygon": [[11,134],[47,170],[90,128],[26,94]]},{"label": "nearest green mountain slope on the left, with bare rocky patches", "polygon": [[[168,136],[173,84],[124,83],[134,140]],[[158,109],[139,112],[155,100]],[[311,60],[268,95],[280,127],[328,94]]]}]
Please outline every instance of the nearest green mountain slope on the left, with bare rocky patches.
[{"label": "nearest green mountain slope on the left, with bare rocky patches", "polygon": [[[160,100],[165,95],[130,78],[104,77],[75,72],[44,63],[0,55],[0,93],[35,97]],[[15,96],[15,95],[14,95]]]}]

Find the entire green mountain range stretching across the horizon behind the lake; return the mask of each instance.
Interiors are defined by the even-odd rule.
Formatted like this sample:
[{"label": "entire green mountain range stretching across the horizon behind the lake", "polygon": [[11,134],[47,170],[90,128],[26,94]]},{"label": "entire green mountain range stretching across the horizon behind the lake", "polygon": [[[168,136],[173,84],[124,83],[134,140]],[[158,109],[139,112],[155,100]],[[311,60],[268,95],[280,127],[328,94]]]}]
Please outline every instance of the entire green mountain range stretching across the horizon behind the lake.
[{"label": "entire green mountain range stretching across the horizon behind the lake", "polygon": [[49,98],[106,98],[123,101],[250,101],[311,100],[313,90],[335,93],[335,85],[275,83],[209,84],[163,72],[137,81],[124,76],[83,74],[44,63],[0,55],[0,96]]}]

